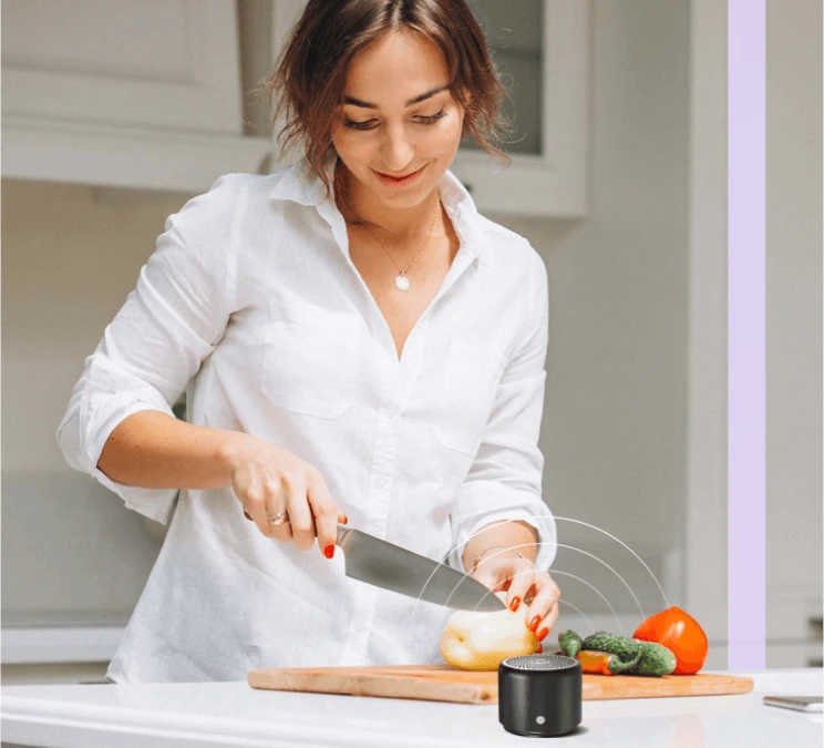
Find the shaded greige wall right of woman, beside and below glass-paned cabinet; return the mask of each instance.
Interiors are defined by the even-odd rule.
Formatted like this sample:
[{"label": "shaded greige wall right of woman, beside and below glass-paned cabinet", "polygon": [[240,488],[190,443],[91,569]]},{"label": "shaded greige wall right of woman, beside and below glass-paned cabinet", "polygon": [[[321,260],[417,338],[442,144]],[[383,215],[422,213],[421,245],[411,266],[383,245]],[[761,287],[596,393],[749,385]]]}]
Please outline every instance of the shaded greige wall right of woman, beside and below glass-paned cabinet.
[{"label": "shaded greige wall right of woman, beside and below glass-paned cabinet", "polygon": [[[660,576],[686,501],[689,3],[604,0],[593,18],[590,215],[498,219],[548,266],[546,500],[619,537]],[[645,613],[665,607],[618,543],[568,522],[559,533],[626,575]],[[583,572],[614,605],[638,612],[601,564],[562,550],[556,567]],[[677,576],[663,583],[670,602]],[[559,586],[599,607],[580,584]]]}]

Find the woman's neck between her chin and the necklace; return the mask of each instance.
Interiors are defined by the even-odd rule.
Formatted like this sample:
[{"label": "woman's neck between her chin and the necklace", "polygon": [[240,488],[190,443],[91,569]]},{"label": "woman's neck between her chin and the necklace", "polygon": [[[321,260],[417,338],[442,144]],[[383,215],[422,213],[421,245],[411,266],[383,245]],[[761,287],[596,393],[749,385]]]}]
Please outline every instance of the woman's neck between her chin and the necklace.
[{"label": "woman's neck between her chin and the necklace", "polygon": [[[334,174],[334,193],[340,212],[348,224],[365,224],[398,242],[418,238],[422,230],[429,229],[439,202],[435,188],[412,207],[387,207],[369,194],[340,161]],[[441,233],[437,225],[434,233]]]}]

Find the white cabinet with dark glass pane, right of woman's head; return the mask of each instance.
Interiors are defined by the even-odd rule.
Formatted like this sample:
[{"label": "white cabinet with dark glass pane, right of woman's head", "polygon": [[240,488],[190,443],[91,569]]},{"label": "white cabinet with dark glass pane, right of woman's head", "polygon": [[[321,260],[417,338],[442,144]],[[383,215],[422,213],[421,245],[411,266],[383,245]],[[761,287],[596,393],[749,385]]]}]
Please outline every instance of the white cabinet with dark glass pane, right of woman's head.
[{"label": "white cabinet with dark glass pane, right of woman's head", "polygon": [[470,0],[511,89],[516,142],[502,166],[462,147],[453,166],[481,211],[553,217],[587,213],[589,0]]}]

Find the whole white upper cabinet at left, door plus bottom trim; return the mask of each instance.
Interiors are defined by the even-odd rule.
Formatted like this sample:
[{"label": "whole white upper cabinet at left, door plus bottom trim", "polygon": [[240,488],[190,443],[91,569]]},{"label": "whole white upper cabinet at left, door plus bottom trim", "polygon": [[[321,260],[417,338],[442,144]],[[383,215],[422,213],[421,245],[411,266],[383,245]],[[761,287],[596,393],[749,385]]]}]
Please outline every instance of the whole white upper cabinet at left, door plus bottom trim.
[{"label": "whole white upper cabinet at left, door plus bottom trim", "polygon": [[3,176],[199,192],[256,172],[234,0],[8,0]]}]

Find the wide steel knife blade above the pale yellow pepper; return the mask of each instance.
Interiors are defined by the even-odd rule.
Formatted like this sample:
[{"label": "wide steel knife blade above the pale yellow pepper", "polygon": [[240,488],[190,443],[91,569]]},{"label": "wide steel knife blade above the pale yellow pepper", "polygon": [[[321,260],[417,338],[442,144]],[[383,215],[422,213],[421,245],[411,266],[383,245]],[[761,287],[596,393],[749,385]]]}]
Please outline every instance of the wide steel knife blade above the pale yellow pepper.
[{"label": "wide steel knife blade above the pale yellow pepper", "polygon": [[346,574],[353,580],[460,611],[503,611],[488,587],[457,570],[361,530],[338,525]]}]

